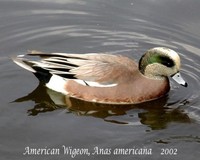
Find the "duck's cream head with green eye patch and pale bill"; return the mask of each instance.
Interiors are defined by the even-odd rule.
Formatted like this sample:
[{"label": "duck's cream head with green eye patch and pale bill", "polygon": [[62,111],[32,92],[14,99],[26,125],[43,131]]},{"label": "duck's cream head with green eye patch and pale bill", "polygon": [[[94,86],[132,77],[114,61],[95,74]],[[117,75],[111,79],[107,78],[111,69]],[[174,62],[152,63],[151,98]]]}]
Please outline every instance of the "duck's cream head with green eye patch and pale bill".
[{"label": "duck's cream head with green eye patch and pale bill", "polygon": [[142,74],[153,79],[163,79],[171,76],[177,83],[187,86],[180,75],[180,57],[175,51],[157,47],[148,50],[139,61]]}]

